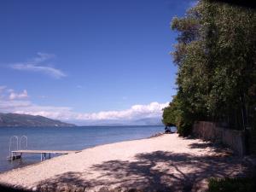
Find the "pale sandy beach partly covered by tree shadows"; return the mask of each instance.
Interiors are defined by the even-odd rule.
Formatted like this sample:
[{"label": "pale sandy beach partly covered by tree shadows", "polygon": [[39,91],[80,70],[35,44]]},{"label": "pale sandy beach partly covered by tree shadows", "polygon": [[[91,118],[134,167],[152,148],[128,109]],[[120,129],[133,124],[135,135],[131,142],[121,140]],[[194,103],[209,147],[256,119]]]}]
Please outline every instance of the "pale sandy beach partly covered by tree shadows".
[{"label": "pale sandy beach partly covered by tree shadows", "polygon": [[246,171],[238,157],[226,157],[200,139],[177,134],[112,143],[66,154],[0,174],[0,183],[32,189],[38,184],[69,183],[91,191],[143,188],[206,189],[208,177]]}]

